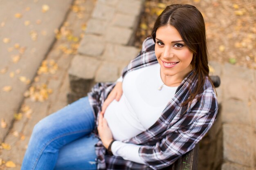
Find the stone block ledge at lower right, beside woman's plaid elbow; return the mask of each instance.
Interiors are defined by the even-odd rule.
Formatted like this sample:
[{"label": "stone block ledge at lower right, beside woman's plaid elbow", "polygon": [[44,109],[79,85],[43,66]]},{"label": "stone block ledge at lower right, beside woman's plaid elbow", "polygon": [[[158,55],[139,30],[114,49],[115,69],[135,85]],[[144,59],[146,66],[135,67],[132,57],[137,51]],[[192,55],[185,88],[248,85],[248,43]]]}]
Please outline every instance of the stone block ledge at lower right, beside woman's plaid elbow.
[{"label": "stone block ledge at lower right, beside woman's plaid elbow", "polygon": [[221,79],[216,89],[220,113],[207,140],[202,140],[202,147],[206,146],[202,150],[207,152],[202,155],[209,158],[203,169],[255,170],[256,70],[228,63],[210,65]]}]

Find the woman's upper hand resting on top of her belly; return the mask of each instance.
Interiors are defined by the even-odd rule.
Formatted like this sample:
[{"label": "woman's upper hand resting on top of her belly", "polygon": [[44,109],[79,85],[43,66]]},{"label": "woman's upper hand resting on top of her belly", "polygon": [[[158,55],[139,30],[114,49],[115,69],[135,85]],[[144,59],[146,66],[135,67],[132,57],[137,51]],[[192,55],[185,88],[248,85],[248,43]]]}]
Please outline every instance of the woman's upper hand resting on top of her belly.
[{"label": "woman's upper hand resting on top of her belly", "polygon": [[122,84],[123,84],[122,82],[117,82],[117,84],[115,85],[113,90],[110,92],[107,99],[105,100],[105,102],[102,105],[102,108],[101,108],[102,114],[105,113],[106,108],[114,99],[116,99],[117,102],[120,100],[120,98],[123,94]]}]

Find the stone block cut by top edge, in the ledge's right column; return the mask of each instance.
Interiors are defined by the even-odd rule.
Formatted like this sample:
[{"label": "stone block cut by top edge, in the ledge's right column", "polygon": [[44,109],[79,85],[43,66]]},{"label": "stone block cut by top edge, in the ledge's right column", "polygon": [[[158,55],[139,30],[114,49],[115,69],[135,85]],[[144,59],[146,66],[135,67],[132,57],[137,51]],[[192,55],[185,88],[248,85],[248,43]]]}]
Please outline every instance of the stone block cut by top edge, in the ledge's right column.
[{"label": "stone block cut by top edge, in the ledge's right column", "polygon": [[117,5],[117,10],[121,13],[128,13],[131,15],[139,15],[142,8],[143,0],[121,0]]}]

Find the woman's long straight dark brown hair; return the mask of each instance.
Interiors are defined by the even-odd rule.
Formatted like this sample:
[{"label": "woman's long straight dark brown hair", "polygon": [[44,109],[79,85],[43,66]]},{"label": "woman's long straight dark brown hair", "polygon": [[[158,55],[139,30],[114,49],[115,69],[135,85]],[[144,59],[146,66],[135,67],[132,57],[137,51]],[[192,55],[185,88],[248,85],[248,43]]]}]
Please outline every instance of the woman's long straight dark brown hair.
[{"label": "woman's long straight dark brown hair", "polygon": [[196,95],[202,93],[205,78],[206,76],[209,76],[204,18],[200,11],[193,5],[169,5],[155,21],[151,33],[154,41],[157,28],[166,26],[168,24],[177,29],[184,43],[193,52],[193,59],[191,61],[193,68],[192,76],[197,77],[198,82],[195,85],[195,89],[190,92],[190,97],[184,103],[182,103],[182,105],[185,106],[192,102]]}]

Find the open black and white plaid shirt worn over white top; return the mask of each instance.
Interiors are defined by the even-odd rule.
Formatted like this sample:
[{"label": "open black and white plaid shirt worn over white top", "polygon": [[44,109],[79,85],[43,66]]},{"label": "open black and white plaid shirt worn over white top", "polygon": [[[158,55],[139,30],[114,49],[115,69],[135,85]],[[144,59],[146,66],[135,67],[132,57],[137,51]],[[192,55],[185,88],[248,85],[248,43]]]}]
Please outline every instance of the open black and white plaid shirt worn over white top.
[{"label": "open black and white plaid shirt worn over white top", "polygon": [[[156,64],[155,43],[152,38],[146,38],[142,50],[123,70],[126,73],[151,64]],[[170,166],[181,155],[195,147],[208,132],[216,120],[218,103],[216,94],[208,77],[200,100],[194,99],[189,107],[181,106],[188,99],[189,92],[193,91],[197,78],[192,73],[183,79],[177,88],[175,96],[170,99],[159,119],[147,130],[123,142],[141,145],[139,156],[146,165],[124,160],[122,157],[110,156],[106,153],[102,142],[95,145],[97,154],[97,168],[107,170],[156,170]],[[98,83],[88,93],[90,104],[95,114],[94,132],[97,134],[98,113],[115,83]],[[97,118],[97,119],[96,119]]]}]

